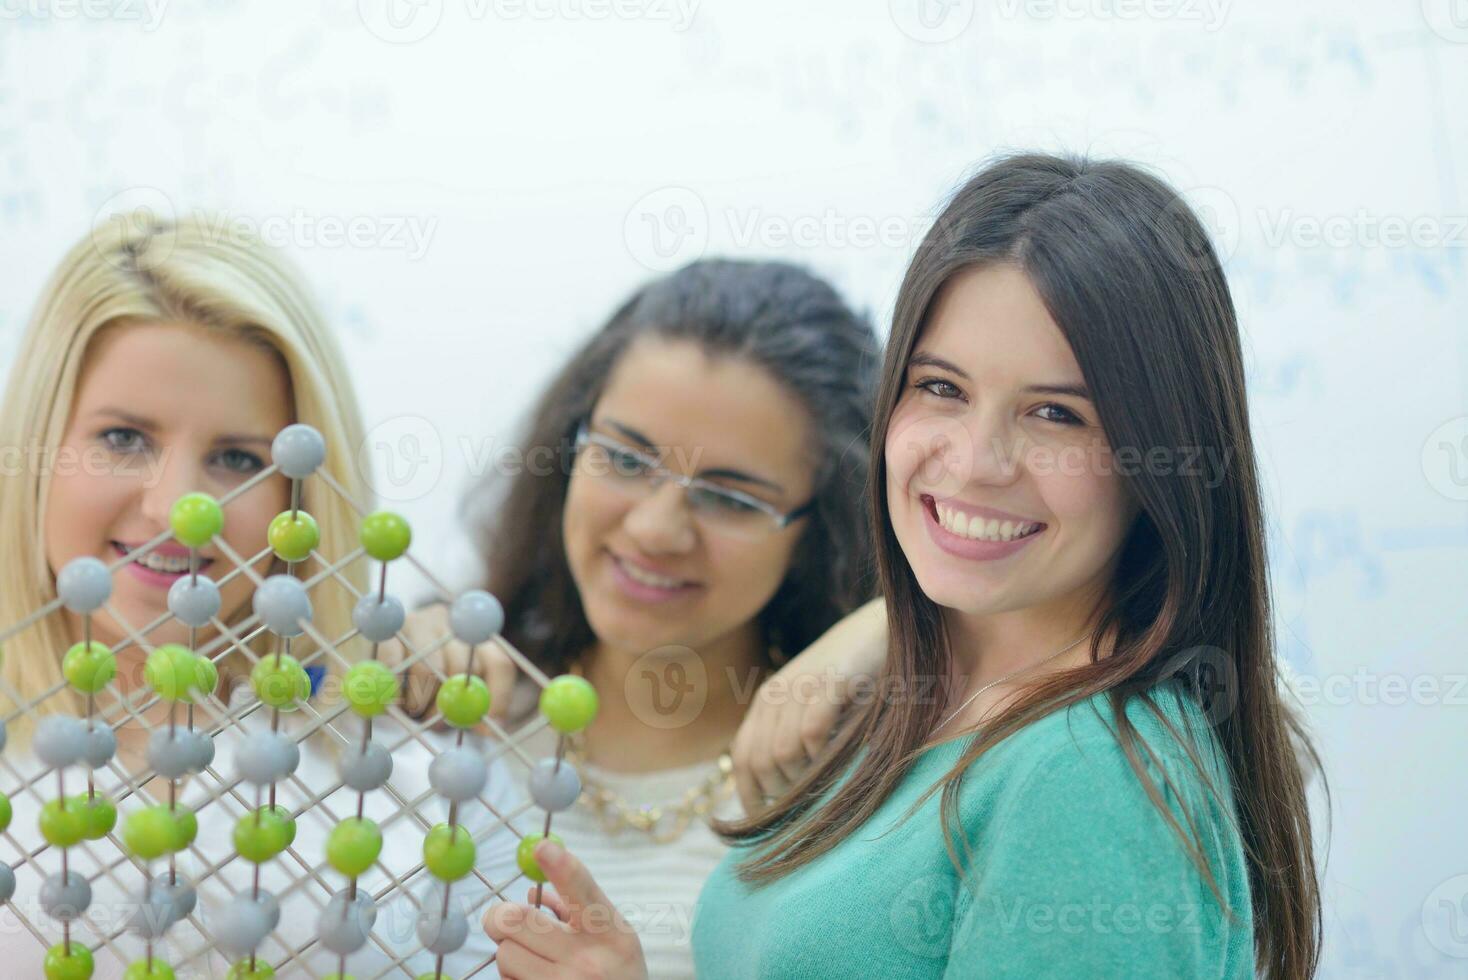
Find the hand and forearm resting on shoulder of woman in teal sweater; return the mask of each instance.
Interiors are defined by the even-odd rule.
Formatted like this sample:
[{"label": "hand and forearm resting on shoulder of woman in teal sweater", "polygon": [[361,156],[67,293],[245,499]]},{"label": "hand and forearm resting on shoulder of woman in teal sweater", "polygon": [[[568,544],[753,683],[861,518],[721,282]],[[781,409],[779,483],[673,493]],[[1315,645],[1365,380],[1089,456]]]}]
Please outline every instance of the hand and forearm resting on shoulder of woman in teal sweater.
[{"label": "hand and forearm resting on shoulder of woman in teal sweater", "polygon": [[763,810],[806,773],[885,659],[887,603],[873,599],[760,685],[730,753],[744,813]]}]

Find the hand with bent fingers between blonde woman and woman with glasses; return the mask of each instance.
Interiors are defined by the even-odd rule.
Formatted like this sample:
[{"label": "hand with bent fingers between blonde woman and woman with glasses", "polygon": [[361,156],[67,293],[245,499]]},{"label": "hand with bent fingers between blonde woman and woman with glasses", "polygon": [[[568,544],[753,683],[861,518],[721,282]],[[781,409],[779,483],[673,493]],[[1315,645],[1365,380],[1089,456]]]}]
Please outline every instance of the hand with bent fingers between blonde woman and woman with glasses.
[{"label": "hand with bent fingers between blonde woman and woman with glasses", "polygon": [[[407,640],[407,646],[404,644]],[[489,714],[505,717],[515,687],[517,668],[498,643],[483,643],[473,651],[449,631],[449,609],[442,603],[408,613],[398,638],[379,644],[377,659],[402,673],[402,710],[410,717],[433,714],[443,678],[473,670],[489,687]],[[442,675],[442,676],[440,676]],[[439,722],[435,728],[442,728]]]}]

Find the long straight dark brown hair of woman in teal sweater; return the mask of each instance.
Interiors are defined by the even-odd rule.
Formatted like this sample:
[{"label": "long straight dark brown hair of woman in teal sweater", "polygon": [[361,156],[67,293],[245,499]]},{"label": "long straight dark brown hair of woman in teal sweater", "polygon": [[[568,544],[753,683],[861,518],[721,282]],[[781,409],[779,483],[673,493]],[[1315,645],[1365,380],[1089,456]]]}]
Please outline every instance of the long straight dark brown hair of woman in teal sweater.
[{"label": "long straight dark brown hair of woman in teal sweater", "polygon": [[[1026,685],[944,776],[950,858],[962,874],[950,827],[975,760],[1023,726],[1104,692],[1138,779],[1217,895],[1199,822],[1188,816],[1185,832],[1169,813],[1163,792],[1171,779],[1163,770],[1158,788],[1148,776],[1144,758],[1152,751],[1124,710],[1132,700],[1151,710],[1211,786],[1199,747],[1152,697],[1177,675],[1196,682],[1198,672],[1210,670],[1224,687],[1214,688],[1224,710],[1207,716],[1233,786],[1255,958],[1268,976],[1309,976],[1320,957],[1320,886],[1292,739],[1315,756],[1277,688],[1239,327],[1202,226],[1157,178],[1116,161],[1001,158],[957,191],[919,246],[897,296],[872,428],[876,563],[891,624],[878,690],[913,691],[916,678],[950,676],[941,609],[919,587],[888,519],[884,446],[907,359],[940,288],[959,270],[992,263],[1023,270],[1044,299],[1080,364],[1114,452],[1129,447],[1142,458],[1148,446],[1199,447],[1213,458],[1227,453],[1229,462],[1217,486],[1149,467],[1123,472],[1139,515],[1122,546],[1110,599],[1098,610],[1091,662]],[[1113,647],[1102,657],[1107,637]],[[920,754],[944,700],[878,697],[857,707],[825,756],[771,810],[721,827],[731,841],[768,845],[741,863],[740,877],[778,879],[859,829]]]}]

